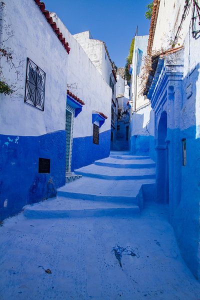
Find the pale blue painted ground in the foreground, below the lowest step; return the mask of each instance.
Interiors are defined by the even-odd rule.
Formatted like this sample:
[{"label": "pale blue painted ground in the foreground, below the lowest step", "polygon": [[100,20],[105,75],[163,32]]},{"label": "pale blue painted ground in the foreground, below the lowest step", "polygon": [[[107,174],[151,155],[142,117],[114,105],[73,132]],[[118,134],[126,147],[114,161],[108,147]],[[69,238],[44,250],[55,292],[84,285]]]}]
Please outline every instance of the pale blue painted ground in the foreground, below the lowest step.
[{"label": "pale blue painted ground in the foreground, below the lowest step", "polygon": [[1,300],[200,299],[163,205],[134,217],[20,214],[0,227],[0,249]]}]

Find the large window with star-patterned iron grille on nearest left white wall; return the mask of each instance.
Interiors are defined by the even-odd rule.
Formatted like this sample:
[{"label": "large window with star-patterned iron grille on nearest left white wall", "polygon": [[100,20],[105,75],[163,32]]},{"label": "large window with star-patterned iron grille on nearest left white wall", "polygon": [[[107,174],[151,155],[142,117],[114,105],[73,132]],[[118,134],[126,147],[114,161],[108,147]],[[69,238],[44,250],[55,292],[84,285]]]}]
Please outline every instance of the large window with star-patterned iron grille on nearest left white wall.
[{"label": "large window with star-patterned iron grille on nearest left white wall", "polygon": [[45,72],[27,57],[24,102],[44,110]]}]

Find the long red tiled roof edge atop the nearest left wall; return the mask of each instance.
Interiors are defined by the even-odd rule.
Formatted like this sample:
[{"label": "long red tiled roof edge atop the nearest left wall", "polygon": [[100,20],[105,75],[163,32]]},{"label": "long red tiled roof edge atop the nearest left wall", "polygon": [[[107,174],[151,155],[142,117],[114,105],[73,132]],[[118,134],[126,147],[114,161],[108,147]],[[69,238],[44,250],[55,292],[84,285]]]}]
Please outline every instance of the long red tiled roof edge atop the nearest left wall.
[{"label": "long red tiled roof edge atop the nearest left wall", "polygon": [[45,16],[47,22],[50,24],[50,26],[52,27],[53,31],[57,35],[58,39],[63,44],[66,52],[69,54],[70,48],[68,46],[68,42],[65,41],[65,38],[62,36],[62,33],[59,31],[59,28],[57,27],[56,23],[53,22],[52,17],[49,15],[49,11],[45,10],[45,4],[44,4],[44,2],[40,2],[40,0],[34,0],[34,1],[39,6],[39,8],[40,8],[41,12],[43,13],[43,15]]}]

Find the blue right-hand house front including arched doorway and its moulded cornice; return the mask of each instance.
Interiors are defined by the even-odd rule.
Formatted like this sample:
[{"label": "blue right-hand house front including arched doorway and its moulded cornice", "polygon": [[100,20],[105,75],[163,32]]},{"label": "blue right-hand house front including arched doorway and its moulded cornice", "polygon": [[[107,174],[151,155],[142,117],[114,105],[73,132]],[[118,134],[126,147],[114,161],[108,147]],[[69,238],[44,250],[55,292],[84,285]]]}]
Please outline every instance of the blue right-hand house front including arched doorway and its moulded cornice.
[{"label": "blue right-hand house front including arched doorway and its moulded cornice", "polygon": [[[187,38],[184,50],[162,58],[163,67],[151,96],[155,112],[155,199],[168,200],[169,217],[180,251],[199,279],[199,63],[192,68],[187,65],[188,43],[191,46],[199,40],[189,40],[189,34]],[[190,62],[193,59],[191,56]],[[182,139],[186,139],[185,166]]]}]

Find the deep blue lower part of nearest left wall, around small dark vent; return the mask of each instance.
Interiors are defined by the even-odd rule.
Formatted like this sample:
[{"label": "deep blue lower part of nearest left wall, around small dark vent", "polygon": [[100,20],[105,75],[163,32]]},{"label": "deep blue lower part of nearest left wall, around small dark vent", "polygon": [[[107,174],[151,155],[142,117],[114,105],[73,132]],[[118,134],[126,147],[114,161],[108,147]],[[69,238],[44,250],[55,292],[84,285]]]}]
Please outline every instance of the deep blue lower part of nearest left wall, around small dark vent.
[{"label": "deep blue lower part of nearest left wall, around small dark vent", "polygon": [[[0,219],[25,204],[56,195],[65,184],[65,130],[40,136],[0,134]],[[50,174],[38,173],[38,158],[50,158]]]}]

